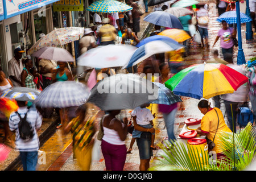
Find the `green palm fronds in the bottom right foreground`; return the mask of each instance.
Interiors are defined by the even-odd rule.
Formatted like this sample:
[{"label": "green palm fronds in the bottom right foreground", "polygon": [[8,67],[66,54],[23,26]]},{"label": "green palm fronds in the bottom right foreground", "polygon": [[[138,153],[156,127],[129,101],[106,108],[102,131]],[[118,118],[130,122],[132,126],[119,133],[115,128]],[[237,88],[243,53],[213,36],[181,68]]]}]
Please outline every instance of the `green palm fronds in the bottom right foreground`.
[{"label": "green palm fronds in the bottom right foreground", "polygon": [[[193,147],[185,146],[178,141],[171,141],[158,144],[163,153],[151,164],[149,170],[152,171],[232,171],[243,170],[254,159],[256,150],[255,133],[253,126],[249,123],[244,129],[233,133],[221,133],[221,148],[226,156],[223,160],[217,160],[217,164],[212,163],[208,152],[195,150]],[[234,145],[233,145],[234,143]],[[234,152],[235,151],[235,152]]]}]

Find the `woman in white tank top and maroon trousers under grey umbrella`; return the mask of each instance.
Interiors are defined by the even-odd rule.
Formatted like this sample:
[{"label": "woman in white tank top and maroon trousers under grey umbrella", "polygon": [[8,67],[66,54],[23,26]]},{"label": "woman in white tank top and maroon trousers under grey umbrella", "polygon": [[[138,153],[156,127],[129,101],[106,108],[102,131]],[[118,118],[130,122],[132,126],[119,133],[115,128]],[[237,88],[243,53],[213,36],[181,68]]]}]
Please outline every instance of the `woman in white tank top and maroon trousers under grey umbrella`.
[{"label": "woman in white tank top and maroon trousers under grey umbrella", "polygon": [[125,166],[128,120],[124,118],[123,123],[115,118],[119,113],[120,110],[109,111],[109,114],[102,119],[104,137],[101,141],[101,150],[108,171],[122,171]]}]

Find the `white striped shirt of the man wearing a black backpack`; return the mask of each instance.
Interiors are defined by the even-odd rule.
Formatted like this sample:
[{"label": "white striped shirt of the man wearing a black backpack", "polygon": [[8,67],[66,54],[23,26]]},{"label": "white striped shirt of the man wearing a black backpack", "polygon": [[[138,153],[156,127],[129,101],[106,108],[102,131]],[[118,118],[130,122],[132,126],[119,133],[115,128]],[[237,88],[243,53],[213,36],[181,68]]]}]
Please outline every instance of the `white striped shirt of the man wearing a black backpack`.
[{"label": "white striped shirt of the man wearing a black backpack", "polygon": [[[27,113],[27,107],[20,107],[18,113],[20,117],[24,118]],[[35,109],[31,108],[27,113],[27,122],[34,128],[34,137],[28,141],[24,141],[19,136],[18,123],[20,121],[19,115],[15,112],[11,113],[9,118],[9,127],[11,131],[16,133],[16,149],[20,152],[32,152],[39,150],[39,138],[36,134],[36,129],[42,125],[42,116]]]}]

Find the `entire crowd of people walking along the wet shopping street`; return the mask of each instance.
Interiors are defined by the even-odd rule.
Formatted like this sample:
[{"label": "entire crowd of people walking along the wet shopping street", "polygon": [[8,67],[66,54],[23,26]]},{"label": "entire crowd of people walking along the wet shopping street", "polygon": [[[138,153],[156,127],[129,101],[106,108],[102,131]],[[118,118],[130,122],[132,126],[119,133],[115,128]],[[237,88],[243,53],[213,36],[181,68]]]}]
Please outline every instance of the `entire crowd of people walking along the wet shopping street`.
[{"label": "entire crowd of people walking along the wet shopping street", "polygon": [[[145,12],[148,12],[147,1],[143,1],[146,7]],[[89,24],[85,28],[84,36],[80,39],[79,49],[80,55],[85,53],[89,49],[96,48],[98,46],[107,46],[109,44],[126,44],[130,46],[135,46],[140,42],[138,38],[138,32],[140,32],[140,21],[141,13],[138,11],[138,3],[133,0],[127,0],[127,5],[133,7],[133,10],[123,13],[112,13],[112,14],[98,14],[92,13],[93,23]],[[163,11],[172,7],[173,3],[166,2],[154,7],[155,11]],[[207,63],[221,63],[228,65],[229,67],[233,66],[233,49],[234,49],[234,40],[236,38],[236,25],[227,24],[225,21],[222,21],[222,28],[218,31],[216,39],[214,40],[213,45],[209,44],[209,35],[208,35],[208,23],[201,23],[201,19],[209,20],[209,14],[207,7],[202,4],[196,5],[197,11],[195,14],[187,14],[179,17],[181,24],[183,25],[183,30],[187,34],[191,35],[191,42],[195,41],[195,30],[198,30],[200,33],[201,40],[197,42],[201,48],[209,49],[212,46],[213,58],[208,60]],[[192,10],[192,7],[189,7]],[[232,11],[234,3],[225,3],[224,1],[217,2],[218,14],[222,14],[225,11]],[[191,28],[192,27],[192,28]],[[168,29],[167,27],[161,27],[155,25],[155,30],[151,32],[149,36],[154,36],[159,34],[159,32]],[[121,41],[118,42],[117,37],[121,38]],[[218,39],[220,39],[221,52],[224,59],[221,59],[218,56],[217,49],[214,49],[215,44]],[[143,73],[146,75],[151,73],[159,73],[159,82],[164,84],[169,80],[175,73],[179,72],[183,65],[184,57],[188,56],[189,49],[191,49],[191,44],[189,40],[182,42],[185,46],[184,49],[178,51],[166,52],[158,55],[149,57],[143,61]],[[42,91],[51,85],[53,82],[57,81],[71,81],[74,80],[71,69],[67,68],[67,64],[64,62],[56,62],[54,60],[46,59],[36,59],[35,67],[33,67],[33,62],[31,59],[22,59],[23,50],[16,48],[14,50],[14,57],[8,63],[8,73],[9,78],[6,78],[5,73],[0,71],[0,93],[7,88],[13,86],[23,86],[27,88],[38,89]],[[168,61],[166,61],[166,59]],[[86,68],[87,69],[87,68]],[[241,69],[234,67],[237,71],[243,73]],[[88,75],[93,71],[93,69],[88,69]],[[98,70],[97,81],[100,81],[103,77],[102,73],[106,73],[111,76],[118,72],[116,69],[105,68]],[[127,68],[126,73],[136,73],[137,66],[132,68]],[[243,73],[245,75],[245,73]],[[251,72],[251,75],[255,75],[255,71]],[[255,76],[254,76],[255,77]],[[147,77],[146,77],[147,78]],[[88,79],[88,76],[85,77]],[[155,81],[155,77],[152,76],[151,81]],[[250,81],[247,85],[242,85],[238,88],[236,93],[226,94],[224,96],[216,96],[212,98],[213,107],[210,107],[208,101],[200,101],[198,108],[205,116],[202,119],[201,127],[197,129],[199,134],[207,135],[207,138],[212,140],[214,133],[216,131],[217,123],[218,131],[228,131],[236,132],[233,130],[232,124],[232,115],[230,113],[231,108],[230,104],[233,106],[233,111],[237,110],[239,104],[247,101],[247,95],[250,96],[251,106],[254,111],[254,117],[256,117],[256,103],[255,103],[255,82]],[[228,116],[229,126],[225,124],[224,116],[220,111],[220,102],[224,101],[226,107],[226,114]],[[43,118],[51,118],[53,111],[59,113],[60,115],[60,124],[57,126],[57,129],[63,126],[66,118],[63,118],[65,115],[63,109],[56,110],[55,108],[40,109],[38,114],[35,110],[28,110],[25,102],[18,102],[19,110],[18,113],[25,115],[28,113],[30,115],[31,123],[34,129],[39,129],[42,125]],[[162,113],[164,122],[166,123],[166,129],[168,134],[168,139],[170,142],[176,140],[174,132],[174,123],[175,115],[179,104],[172,105],[158,105],[156,109],[157,112]],[[152,107],[151,107],[152,108]],[[154,109],[153,109],[154,110]],[[218,119],[216,118],[216,113]],[[75,114],[73,117],[68,119],[68,124],[64,127],[65,133],[72,132],[73,135],[73,152],[74,158],[77,158],[81,169],[89,170],[90,163],[92,159],[92,148],[93,140],[96,139],[96,129],[93,125],[93,122],[88,121],[86,117],[88,113],[88,108],[86,106],[76,107]],[[126,155],[131,151],[133,143],[137,141],[137,146],[139,149],[139,157],[141,159],[140,170],[147,170],[150,167],[150,158],[152,156],[152,150],[156,150],[154,146],[154,137],[155,129],[154,122],[156,113],[152,113],[148,109],[148,105],[142,105],[135,108],[131,112],[131,117],[133,118],[133,129],[131,134],[133,139],[131,140],[131,146],[126,148],[125,140],[129,128],[129,123],[127,118],[118,119],[117,115],[120,113],[120,110],[106,111],[106,115],[102,118],[101,127],[102,132],[104,133],[101,137],[101,150],[105,159],[106,170],[123,170],[125,165]],[[234,114],[236,115],[236,114]],[[212,119],[212,120],[211,120]],[[236,118],[235,118],[236,119]],[[8,142],[11,140],[9,131],[16,131],[16,134],[19,132],[17,128],[17,123],[19,121],[18,115],[13,113],[8,120],[1,117],[1,120],[5,123],[5,139]],[[210,122],[214,125],[210,125]],[[85,126],[86,125],[86,129]],[[8,127],[9,126],[9,127]],[[236,127],[235,127],[236,129]],[[91,131],[92,140],[86,145],[80,145],[81,140],[85,140],[88,137],[86,132]],[[36,133],[36,132],[35,132]],[[220,133],[218,133],[217,138]],[[16,135],[18,136],[18,135]],[[86,137],[85,137],[86,136]],[[26,147],[26,143],[22,142],[20,138],[16,138],[16,146],[20,151],[22,156],[22,163],[24,170],[35,170],[36,166],[36,156],[37,151],[39,150],[39,139],[35,134],[34,138],[31,140],[31,145]],[[220,145],[217,143],[216,147],[213,149],[220,154]],[[32,160],[30,160],[32,159]],[[32,161],[32,162],[31,162]]]}]

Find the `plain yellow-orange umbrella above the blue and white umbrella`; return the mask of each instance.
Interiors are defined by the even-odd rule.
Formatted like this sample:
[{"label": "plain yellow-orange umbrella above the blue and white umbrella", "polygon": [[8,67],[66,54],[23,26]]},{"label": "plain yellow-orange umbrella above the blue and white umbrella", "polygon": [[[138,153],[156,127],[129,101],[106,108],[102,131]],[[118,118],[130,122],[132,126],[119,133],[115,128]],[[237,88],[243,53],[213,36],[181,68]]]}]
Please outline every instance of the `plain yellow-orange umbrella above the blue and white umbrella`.
[{"label": "plain yellow-orange umbrella above the blue and white umbrella", "polygon": [[187,32],[176,28],[164,30],[160,32],[158,35],[168,36],[169,38],[174,39],[176,42],[179,43],[191,38],[191,36],[189,36]]}]

